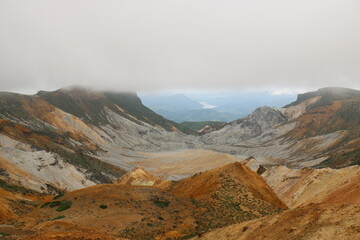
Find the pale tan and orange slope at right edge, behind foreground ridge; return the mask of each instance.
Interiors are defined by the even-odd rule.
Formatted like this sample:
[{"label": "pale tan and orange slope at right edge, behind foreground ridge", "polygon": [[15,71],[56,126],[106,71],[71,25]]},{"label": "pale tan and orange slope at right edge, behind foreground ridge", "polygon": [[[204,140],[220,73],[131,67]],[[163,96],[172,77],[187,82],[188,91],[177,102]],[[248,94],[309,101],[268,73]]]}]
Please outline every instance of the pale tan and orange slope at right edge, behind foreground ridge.
[{"label": "pale tan and orange slope at right edge, behind foreground ridge", "polygon": [[262,176],[289,207],[311,203],[360,202],[360,167],[289,169],[272,167]]}]

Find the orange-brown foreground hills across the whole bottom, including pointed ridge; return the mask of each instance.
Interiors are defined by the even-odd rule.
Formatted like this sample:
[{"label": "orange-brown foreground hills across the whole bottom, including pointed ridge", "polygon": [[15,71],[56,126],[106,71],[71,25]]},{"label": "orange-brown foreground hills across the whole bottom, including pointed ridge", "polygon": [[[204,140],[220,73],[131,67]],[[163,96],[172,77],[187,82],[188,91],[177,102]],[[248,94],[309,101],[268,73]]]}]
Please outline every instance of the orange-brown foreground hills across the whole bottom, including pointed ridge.
[{"label": "orange-brown foreground hills across the whole bottom, including pointed ridge", "polygon": [[237,162],[172,182],[138,167],[115,184],[57,196],[3,181],[0,232],[40,240],[356,239],[360,199],[354,170],[274,167],[263,173],[267,185]]}]

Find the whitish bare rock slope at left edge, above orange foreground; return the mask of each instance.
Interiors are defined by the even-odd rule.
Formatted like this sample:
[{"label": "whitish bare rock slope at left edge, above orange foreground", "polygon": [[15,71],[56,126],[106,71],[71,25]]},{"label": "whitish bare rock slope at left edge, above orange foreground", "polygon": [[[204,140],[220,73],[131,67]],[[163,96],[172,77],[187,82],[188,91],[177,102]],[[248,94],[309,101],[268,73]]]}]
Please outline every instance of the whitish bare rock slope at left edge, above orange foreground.
[{"label": "whitish bare rock slope at left edge, above orange foreground", "polygon": [[[75,190],[95,184],[83,172],[54,153],[33,150],[29,145],[4,135],[0,135],[0,143],[0,161],[7,162],[0,165],[7,166],[5,170],[10,179],[17,180],[30,189],[47,192],[46,184],[51,184],[59,189]],[[25,173],[32,177],[31,181],[23,176]]]}]

